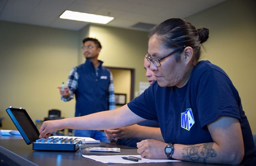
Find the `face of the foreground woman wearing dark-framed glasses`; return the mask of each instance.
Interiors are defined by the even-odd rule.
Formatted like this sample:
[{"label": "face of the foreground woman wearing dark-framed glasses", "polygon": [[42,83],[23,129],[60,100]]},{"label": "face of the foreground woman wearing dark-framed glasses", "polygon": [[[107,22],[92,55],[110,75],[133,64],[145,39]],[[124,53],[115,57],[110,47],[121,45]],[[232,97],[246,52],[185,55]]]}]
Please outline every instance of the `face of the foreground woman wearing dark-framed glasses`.
[{"label": "face of the foreground woman wearing dark-framed glasses", "polygon": [[[152,58],[160,58],[174,49],[164,47],[162,40],[157,35],[152,36],[148,41],[148,54]],[[153,71],[158,85],[161,87],[183,87],[186,85],[190,73],[185,61],[184,51],[180,55],[180,61],[177,62],[174,55],[170,55],[160,61],[161,65],[156,67],[150,63],[150,70]]]}]

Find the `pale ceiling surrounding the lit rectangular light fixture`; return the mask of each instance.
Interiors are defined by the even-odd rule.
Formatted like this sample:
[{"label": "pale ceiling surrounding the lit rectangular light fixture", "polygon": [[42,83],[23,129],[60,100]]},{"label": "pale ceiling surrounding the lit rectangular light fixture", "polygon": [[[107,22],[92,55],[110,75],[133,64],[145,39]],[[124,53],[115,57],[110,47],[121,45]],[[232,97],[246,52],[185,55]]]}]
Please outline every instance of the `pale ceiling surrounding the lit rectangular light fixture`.
[{"label": "pale ceiling surrounding the lit rectangular light fixture", "polygon": [[225,0],[0,0],[0,20],[80,30],[86,22],[63,20],[65,10],[114,16],[106,24],[134,29],[138,22],[159,24],[172,18],[184,18]]}]

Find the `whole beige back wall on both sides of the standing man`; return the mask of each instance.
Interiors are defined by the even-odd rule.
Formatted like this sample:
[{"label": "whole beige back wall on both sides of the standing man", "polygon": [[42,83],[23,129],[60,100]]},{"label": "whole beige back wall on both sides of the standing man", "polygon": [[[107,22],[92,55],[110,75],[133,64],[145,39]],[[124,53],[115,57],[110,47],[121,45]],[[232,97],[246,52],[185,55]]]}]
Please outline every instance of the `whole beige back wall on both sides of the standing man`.
[{"label": "whole beige back wall on both sides of the standing man", "polygon": [[[66,82],[72,67],[84,63],[80,47],[87,36],[101,41],[103,48],[99,59],[105,66],[133,68],[136,84],[146,80],[143,69],[146,32],[96,25],[75,32],[0,22],[0,117],[5,118],[3,129],[15,129],[5,111],[9,106],[26,109],[33,121],[47,117],[50,109],[60,109],[62,117],[74,116],[75,101],[61,101],[57,86]],[[137,85],[135,89],[138,89]]]}]

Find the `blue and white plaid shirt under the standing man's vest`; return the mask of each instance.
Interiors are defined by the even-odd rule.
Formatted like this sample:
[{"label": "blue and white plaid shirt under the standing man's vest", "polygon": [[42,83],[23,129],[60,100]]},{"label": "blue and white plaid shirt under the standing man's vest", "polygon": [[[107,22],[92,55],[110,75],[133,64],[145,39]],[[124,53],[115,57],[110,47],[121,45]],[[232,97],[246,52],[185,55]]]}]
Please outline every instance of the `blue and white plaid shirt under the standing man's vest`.
[{"label": "blue and white plaid shirt under the standing man's vest", "polygon": [[[98,67],[96,67],[96,75],[98,75]],[[61,96],[61,99],[63,101],[70,101],[71,99],[74,99],[74,91],[76,91],[78,87],[78,79],[79,79],[79,75],[77,72],[77,68],[74,67],[73,69],[71,69],[68,76],[68,81],[66,83],[66,86],[70,88],[69,90],[70,97],[65,99],[64,97]],[[109,110],[116,109],[113,75],[111,72],[110,72],[110,84],[108,86],[108,92],[109,92],[109,97],[108,97]]]}]

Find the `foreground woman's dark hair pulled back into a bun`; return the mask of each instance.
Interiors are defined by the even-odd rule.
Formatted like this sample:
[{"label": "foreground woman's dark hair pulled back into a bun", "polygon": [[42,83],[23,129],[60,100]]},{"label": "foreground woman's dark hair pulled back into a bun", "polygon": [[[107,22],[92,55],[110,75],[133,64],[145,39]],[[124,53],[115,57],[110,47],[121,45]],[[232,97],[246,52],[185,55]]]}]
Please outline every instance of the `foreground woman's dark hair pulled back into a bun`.
[{"label": "foreground woman's dark hair pulled back into a bun", "polygon": [[155,26],[149,38],[153,35],[157,35],[166,48],[182,48],[184,45],[192,47],[195,59],[198,61],[201,54],[200,44],[208,39],[209,30],[207,28],[196,29],[190,22],[181,18],[171,18]]}]

